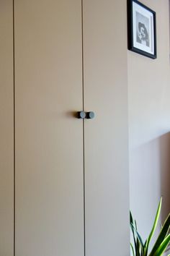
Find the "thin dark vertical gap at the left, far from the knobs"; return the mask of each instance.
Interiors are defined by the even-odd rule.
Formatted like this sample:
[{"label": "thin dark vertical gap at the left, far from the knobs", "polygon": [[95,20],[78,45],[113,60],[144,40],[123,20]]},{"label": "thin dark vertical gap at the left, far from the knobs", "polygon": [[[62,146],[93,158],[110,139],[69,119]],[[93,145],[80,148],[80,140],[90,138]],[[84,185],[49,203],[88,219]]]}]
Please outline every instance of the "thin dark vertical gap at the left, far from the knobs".
[{"label": "thin dark vertical gap at the left, far from the knobs", "polygon": [[13,94],[14,94],[14,256],[15,256],[15,45],[14,45],[14,0],[12,1],[13,4],[13,82],[14,82],[14,87],[13,87]]}]

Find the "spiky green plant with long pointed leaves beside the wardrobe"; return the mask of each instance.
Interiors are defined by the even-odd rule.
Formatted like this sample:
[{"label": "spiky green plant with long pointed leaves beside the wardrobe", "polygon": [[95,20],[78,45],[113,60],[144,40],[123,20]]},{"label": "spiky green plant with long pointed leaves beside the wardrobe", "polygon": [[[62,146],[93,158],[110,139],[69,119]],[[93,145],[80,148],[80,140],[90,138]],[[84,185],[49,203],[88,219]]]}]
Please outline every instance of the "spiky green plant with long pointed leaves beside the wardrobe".
[{"label": "spiky green plant with long pointed leaves beside the wardrobe", "polygon": [[[133,220],[132,213],[130,212],[130,228],[133,232],[133,239],[134,239],[134,246],[130,243],[130,247],[133,252],[133,256],[161,256],[165,252],[166,248],[170,243],[170,234],[169,234],[169,227],[170,227],[170,213],[169,216],[166,218],[164,225],[161,226],[161,231],[156,239],[151,252],[148,252],[148,246],[151,242],[151,238],[156,230],[156,226],[158,224],[158,218],[161,213],[161,203],[162,198],[158,204],[158,209],[156,212],[155,221],[153,223],[153,228],[151,229],[151,233],[149,234],[148,238],[145,242],[141,238],[140,234],[138,233],[138,227],[135,220]],[[170,256],[170,255],[169,255]]]}]

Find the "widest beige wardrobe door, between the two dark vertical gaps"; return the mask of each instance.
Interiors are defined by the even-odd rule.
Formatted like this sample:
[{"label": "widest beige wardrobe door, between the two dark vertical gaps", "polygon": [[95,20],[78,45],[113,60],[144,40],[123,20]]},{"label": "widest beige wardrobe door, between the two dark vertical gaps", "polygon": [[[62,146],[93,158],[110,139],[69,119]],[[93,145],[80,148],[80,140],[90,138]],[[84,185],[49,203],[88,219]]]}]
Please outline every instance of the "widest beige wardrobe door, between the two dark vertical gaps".
[{"label": "widest beige wardrobe door, between the two dark vertical gaps", "polygon": [[14,0],[17,256],[84,255],[81,1]]}]

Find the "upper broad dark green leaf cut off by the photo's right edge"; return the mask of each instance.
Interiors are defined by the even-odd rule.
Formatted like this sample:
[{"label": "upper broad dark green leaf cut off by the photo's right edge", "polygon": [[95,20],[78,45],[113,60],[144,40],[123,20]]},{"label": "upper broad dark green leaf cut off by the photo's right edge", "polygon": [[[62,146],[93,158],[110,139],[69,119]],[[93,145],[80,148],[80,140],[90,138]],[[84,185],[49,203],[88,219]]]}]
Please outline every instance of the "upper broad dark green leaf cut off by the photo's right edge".
[{"label": "upper broad dark green leaf cut off by the photo's right edge", "polygon": [[164,241],[166,235],[169,232],[170,227],[170,213],[169,216],[166,218],[166,221],[164,222],[164,225],[161,229],[160,234],[158,235],[158,238],[156,239],[156,243],[153,246],[153,249],[151,250],[151,255],[154,255],[160,244]]}]

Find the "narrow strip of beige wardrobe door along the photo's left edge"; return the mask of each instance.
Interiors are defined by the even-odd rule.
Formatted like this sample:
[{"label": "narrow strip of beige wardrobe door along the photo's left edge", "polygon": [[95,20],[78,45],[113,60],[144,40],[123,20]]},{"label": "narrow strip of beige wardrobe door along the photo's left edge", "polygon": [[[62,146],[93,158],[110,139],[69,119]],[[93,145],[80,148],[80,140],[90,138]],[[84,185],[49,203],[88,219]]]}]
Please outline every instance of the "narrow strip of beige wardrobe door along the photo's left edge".
[{"label": "narrow strip of beige wardrobe door along the photo's left edge", "polygon": [[13,5],[0,1],[0,255],[14,255]]}]

